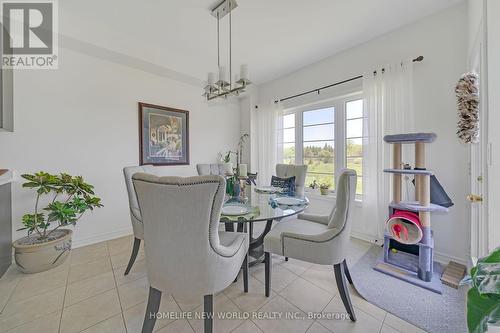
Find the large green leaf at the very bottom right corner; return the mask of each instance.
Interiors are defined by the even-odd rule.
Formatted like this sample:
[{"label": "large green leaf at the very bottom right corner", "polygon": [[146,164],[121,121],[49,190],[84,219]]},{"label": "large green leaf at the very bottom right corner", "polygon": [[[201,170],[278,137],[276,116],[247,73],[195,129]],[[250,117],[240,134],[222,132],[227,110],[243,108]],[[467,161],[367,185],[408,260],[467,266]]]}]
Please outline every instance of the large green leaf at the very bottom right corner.
[{"label": "large green leaf at the very bottom right corner", "polygon": [[500,321],[500,296],[481,295],[476,288],[467,293],[467,327],[469,333],[484,333],[488,322]]}]

